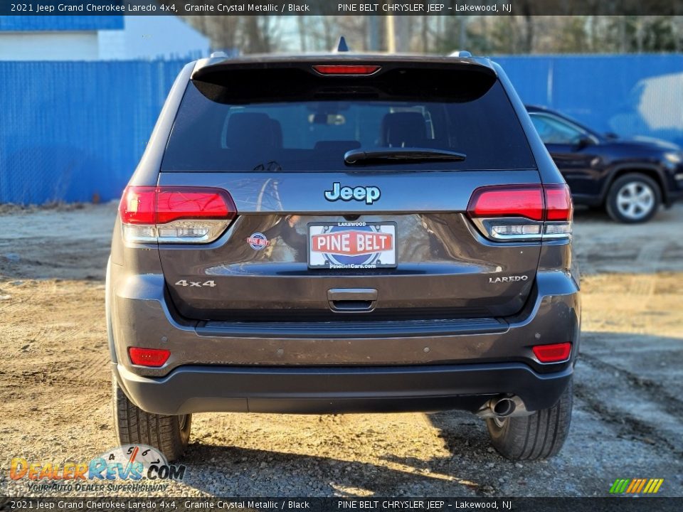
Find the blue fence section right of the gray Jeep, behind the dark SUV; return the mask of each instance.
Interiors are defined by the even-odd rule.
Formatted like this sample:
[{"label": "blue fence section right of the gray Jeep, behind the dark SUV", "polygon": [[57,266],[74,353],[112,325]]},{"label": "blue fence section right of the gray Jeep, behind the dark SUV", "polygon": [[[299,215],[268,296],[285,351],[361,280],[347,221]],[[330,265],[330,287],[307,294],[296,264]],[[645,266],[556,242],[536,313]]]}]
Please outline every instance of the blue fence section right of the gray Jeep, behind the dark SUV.
[{"label": "blue fence section right of the gray Jeep, behind the dark SUV", "polygon": [[521,99],[602,132],[683,144],[683,55],[540,55],[494,58]]}]

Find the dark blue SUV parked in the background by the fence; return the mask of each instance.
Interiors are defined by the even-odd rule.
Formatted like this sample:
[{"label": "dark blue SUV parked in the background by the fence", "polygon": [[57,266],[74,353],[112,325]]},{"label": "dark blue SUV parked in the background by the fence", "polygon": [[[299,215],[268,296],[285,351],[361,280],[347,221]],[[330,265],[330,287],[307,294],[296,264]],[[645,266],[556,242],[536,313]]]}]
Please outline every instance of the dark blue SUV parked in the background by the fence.
[{"label": "dark blue SUV parked in the background by the fence", "polygon": [[683,151],[646,137],[601,134],[559,112],[527,106],[574,203],[603,206],[623,223],[650,220],[683,198]]}]

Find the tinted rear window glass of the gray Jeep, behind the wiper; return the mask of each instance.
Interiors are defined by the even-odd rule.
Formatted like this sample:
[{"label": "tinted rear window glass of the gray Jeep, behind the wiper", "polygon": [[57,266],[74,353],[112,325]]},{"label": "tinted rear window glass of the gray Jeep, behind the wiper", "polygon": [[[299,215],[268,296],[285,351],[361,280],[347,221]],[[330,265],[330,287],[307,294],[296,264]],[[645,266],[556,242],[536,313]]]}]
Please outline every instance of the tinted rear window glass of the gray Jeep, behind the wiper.
[{"label": "tinted rear window glass of the gray Jeep, behind the wiper", "polygon": [[[271,85],[277,92],[277,81]],[[201,92],[200,89],[204,92]],[[206,93],[206,90],[209,93]],[[260,102],[190,82],[162,171],[387,171],[534,169],[534,158],[502,85],[477,97],[391,94],[288,96]],[[272,97],[272,95],[271,95]],[[355,99],[357,97],[358,99]],[[465,161],[349,165],[351,149],[429,148]]]}]

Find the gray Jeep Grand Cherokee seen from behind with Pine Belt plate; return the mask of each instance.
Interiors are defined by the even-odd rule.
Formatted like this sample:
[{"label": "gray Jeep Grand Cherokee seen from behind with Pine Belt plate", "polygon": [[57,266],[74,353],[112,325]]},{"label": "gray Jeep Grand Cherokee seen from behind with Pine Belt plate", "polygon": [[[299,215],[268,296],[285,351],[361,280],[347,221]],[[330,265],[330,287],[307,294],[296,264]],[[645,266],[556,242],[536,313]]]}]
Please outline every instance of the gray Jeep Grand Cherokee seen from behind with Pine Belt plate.
[{"label": "gray Jeep Grand Cherokee seen from behind with Pine Belt plate", "polygon": [[566,183],[485,58],[208,58],[177,78],[107,268],[115,424],[173,460],[195,412],[474,412],[509,459],[568,432]]}]

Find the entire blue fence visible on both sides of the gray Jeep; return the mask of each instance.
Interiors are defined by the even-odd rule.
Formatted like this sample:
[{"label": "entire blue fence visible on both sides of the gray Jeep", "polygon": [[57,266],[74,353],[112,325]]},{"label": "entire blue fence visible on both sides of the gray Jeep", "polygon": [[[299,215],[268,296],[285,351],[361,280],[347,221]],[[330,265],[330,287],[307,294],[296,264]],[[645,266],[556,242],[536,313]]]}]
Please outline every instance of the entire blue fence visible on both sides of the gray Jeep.
[{"label": "entire blue fence visible on both sides of the gray Jeep", "polygon": [[[683,55],[501,56],[522,100],[683,142]],[[184,60],[0,62],[0,202],[117,198]]]}]

